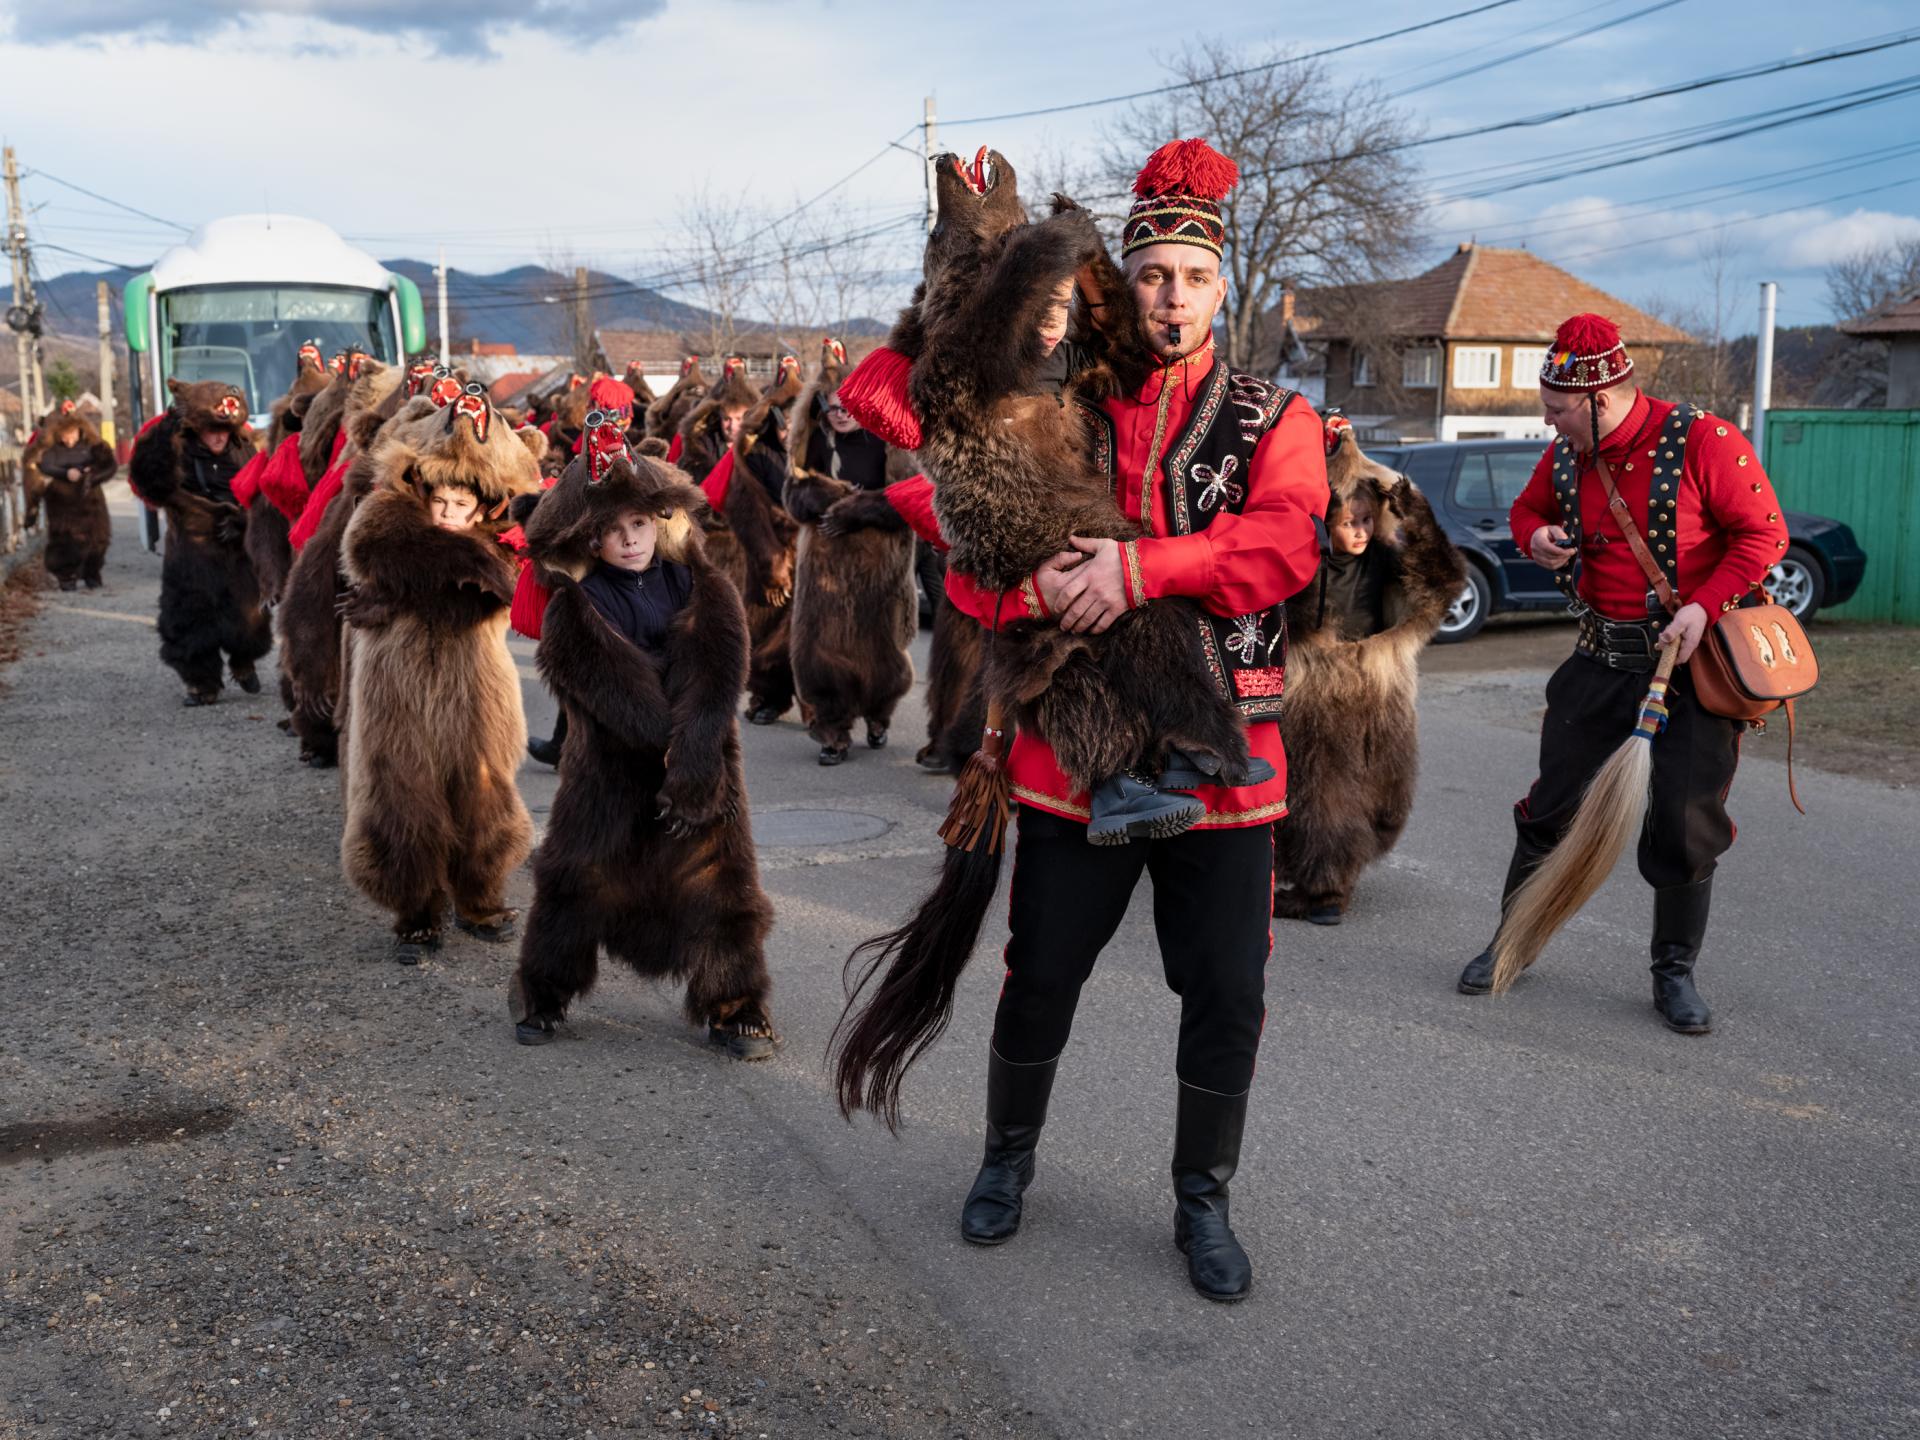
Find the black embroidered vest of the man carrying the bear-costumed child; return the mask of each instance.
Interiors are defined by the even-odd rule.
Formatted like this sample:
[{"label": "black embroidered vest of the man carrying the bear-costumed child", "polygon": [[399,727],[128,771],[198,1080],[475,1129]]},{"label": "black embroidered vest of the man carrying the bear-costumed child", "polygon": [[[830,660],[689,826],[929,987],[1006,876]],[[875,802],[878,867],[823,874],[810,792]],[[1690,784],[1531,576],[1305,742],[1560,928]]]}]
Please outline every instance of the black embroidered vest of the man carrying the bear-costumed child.
[{"label": "black embroidered vest of the man carrying the bear-costumed child", "polygon": [[[1165,513],[1175,536],[1206,530],[1215,515],[1242,511],[1254,447],[1292,399],[1292,390],[1213,365],[1200,382],[1200,399],[1185,428],[1162,451]],[[1081,405],[1092,419],[1094,465],[1117,492],[1114,419],[1094,405]],[[1142,503],[1150,505],[1144,497]],[[1200,611],[1198,632],[1200,653],[1219,693],[1248,720],[1277,718],[1286,684],[1286,607],[1271,605],[1233,618]]]}]

